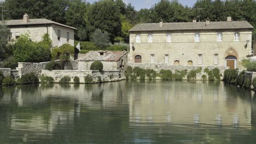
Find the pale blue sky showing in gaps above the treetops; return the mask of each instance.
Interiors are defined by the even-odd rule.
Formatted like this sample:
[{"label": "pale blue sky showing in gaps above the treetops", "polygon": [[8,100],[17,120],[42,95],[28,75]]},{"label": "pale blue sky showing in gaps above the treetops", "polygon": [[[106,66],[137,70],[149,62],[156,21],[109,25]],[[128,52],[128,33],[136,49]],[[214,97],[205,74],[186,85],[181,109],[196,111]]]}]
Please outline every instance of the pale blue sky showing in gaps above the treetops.
[{"label": "pale blue sky showing in gaps above the treetops", "polygon": [[[93,3],[98,0],[87,0],[87,2]],[[170,0],[171,1],[171,0]],[[123,0],[126,4],[131,3],[136,10],[142,9],[142,8],[151,8],[152,5],[154,5],[157,2],[160,2],[160,0]],[[196,0],[179,0],[180,3],[183,5],[188,5],[189,7],[192,7],[193,4],[196,2]]]}]

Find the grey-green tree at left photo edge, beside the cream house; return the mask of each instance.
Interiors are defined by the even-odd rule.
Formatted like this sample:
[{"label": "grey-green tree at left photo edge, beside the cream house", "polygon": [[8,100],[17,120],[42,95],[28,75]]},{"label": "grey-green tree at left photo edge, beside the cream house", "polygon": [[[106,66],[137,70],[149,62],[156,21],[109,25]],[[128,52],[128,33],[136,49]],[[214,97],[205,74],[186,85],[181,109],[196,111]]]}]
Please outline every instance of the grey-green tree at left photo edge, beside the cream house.
[{"label": "grey-green tree at left photo edge, beside the cream house", "polygon": [[10,29],[5,25],[0,25],[0,61],[3,60],[5,56],[5,51],[7,50],[8,38],[10,37]]}]

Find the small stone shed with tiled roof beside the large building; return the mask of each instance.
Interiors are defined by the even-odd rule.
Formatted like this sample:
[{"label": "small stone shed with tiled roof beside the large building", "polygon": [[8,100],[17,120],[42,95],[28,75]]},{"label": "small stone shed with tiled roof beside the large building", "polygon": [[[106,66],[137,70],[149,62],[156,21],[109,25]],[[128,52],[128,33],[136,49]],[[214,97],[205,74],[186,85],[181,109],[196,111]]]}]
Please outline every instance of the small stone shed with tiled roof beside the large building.
[{"label": "small stone shed with tiled roof beside the large building", "polygon": [[89,51],[85,55],[79,56],[78,70],[90,70],[90,66],[95,61],[101,61],[103,70],[122,70],[127,65],[127,51]]}]

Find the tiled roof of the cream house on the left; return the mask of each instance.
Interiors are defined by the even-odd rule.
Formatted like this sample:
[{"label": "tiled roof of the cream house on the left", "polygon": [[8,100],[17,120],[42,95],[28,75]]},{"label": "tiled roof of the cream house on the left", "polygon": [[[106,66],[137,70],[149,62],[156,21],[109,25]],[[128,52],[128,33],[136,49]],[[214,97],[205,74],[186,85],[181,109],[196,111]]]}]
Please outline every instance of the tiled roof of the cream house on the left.
[{"label": "tiled roof of the cream house on the left", "polygon": [[[2,21],[0,21],[2,23]],[[55,22],[55,21],[50,21],[47,19],[29,19],[27,23],[25,23],[23,20],[7,20],[4,21],[5,25],[7,26],[25,26],[25,25],[44,25],[44,24],[55,24],[63,27],[68,27],[71,29],[77,29],[74,27],[70,27],[67,25],[63,25],[61,23]]]}]

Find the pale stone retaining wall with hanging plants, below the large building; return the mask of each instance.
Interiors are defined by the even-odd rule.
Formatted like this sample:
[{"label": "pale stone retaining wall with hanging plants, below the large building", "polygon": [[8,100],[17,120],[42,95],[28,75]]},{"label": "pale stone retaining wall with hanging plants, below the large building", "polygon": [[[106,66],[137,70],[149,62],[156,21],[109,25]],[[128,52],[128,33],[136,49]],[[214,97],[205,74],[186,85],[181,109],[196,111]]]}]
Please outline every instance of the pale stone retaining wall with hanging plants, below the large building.
[{"label": "pale stone retaining wall with hanging plants, below the large building", "polygon": [[[202,75],[207,75],[204,73],[205,68],[208,68],[209,70],[212,70],[214,68],[218,68],[220,71],[220,74],[224,76],[225,67],[208,67],[205,65],[202,66],[194,66],[194,65],[167,65],[165,63],[128,63],[128,65],[132,68],[139,67],[143,69],[153,69],[156,71],[156,73],[159,73],[161,69],[163,70],[171,70],[172,73],[175,73],[176,70],[185,70],[187,69],[188,72],[190,70],[196,70],[197,68],[202,68],[201,73],[196,75],[195,80],[202,80]],[[208,77],[208,75],[207,75]],[[157,79],[160,79],[160,77],[157,77]],[[184,77],[184,80],[187,80],[187,76]],[[221,80],[223,80],[223,77],[221,77]]]}]

